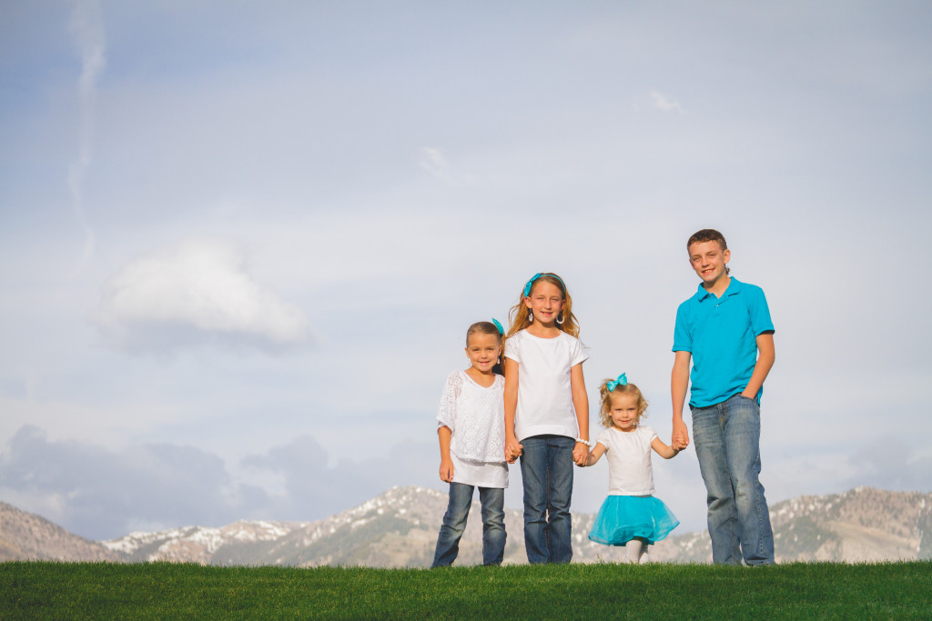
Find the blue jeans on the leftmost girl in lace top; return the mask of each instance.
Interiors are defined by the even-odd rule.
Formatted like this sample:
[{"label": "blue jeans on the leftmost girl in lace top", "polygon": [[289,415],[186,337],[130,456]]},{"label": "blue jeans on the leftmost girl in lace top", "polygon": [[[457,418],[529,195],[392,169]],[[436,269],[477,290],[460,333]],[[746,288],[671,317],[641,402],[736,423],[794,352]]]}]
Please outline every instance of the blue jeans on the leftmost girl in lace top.
[{"label": "blue jeans on the leftmost girl in lace top", "polygon": [[[456,560],[474,489],[473,485],[450,483],[450,499],[437,536],[432,568],[445,567]],[[498,487],[480,487],[479,501],[482,503],[482,563],[499,565],[505,554],[505,491]]]}]

